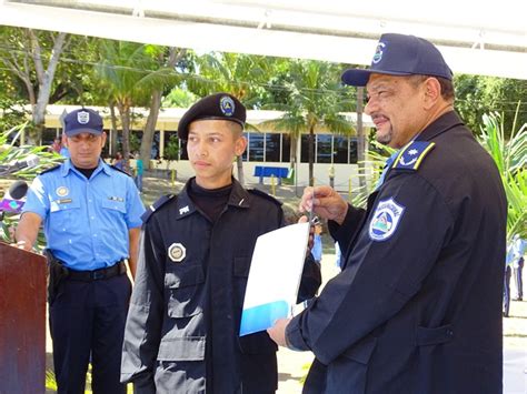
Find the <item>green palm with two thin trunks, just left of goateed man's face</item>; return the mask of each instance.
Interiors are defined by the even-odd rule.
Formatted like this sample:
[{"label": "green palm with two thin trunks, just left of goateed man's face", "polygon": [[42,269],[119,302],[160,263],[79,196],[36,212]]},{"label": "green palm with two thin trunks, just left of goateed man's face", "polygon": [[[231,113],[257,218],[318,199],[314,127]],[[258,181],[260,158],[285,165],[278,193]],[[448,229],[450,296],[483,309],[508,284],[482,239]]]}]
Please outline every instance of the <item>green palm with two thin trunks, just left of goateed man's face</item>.
[{"label": "green palm with two thin trunks, just left of goateed man's face", "polygon": [[336,64],[297,60],[290,63],[286,78],[287,102],[272,107],[286,113],[272,123],[288,131],[291,139],[291,164],[297,161],[296,147],[302,132],[309,132],[309,185],[314,185],[315,131],[327,129],[339,134],[350,134],[354,125],[342,112],[350,110],[348,94],[338,82],[340,68]]}]

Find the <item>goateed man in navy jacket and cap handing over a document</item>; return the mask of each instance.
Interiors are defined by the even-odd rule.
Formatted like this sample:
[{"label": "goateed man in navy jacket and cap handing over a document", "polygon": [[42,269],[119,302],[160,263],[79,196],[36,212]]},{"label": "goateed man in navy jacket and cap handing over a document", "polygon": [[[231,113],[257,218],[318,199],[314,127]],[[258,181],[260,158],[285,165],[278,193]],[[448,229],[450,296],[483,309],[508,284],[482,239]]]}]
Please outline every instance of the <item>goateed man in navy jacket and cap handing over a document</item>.
[{"label": "goateed man in navy jacket and cap handing over a document", "polygon": [[[301,209],[330,219],[344,270],[269,330],[311,350],[305,393],[498,394],[507,201],[493,159],[454,112],[451,71],[428,41],[384,34],[366,85],[377,140],[399,151],[367,210],[328,186]],[[315,201],[311,204],[311,196]]]}]

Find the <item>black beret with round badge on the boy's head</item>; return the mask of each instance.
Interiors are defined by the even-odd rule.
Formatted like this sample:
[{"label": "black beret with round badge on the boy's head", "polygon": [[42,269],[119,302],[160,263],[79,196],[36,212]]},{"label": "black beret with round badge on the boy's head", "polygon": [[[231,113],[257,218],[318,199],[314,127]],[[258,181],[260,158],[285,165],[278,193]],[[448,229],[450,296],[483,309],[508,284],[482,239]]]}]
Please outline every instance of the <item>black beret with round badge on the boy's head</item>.
[{"label": "black beret with round badge on the boy's head", "polygon": [[179,121],[178,135],[187,140],[189,125],[196,120],[229,120],[243,128],[246,123],[246,108],[237,98],[229,93],[217,93],[202,98],[185,112]]}]

